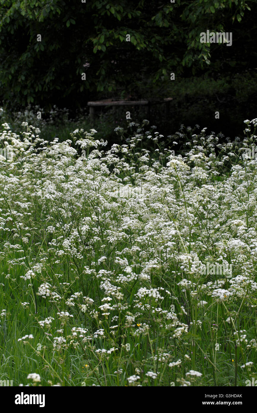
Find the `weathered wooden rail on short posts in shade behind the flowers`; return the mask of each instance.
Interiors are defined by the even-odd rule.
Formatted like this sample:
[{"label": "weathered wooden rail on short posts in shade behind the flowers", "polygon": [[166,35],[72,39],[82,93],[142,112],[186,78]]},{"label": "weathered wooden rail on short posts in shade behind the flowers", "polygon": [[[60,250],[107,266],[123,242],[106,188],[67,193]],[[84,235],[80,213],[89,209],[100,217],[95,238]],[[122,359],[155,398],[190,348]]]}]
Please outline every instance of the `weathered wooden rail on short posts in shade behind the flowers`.
[{"label": "weathered wooden rail on short posts in shade behind the flowers", "polygon": [[94,109],[95,107],[103,107],[103,106],[111,106],[113,109],[116,106],[141,106],[141,105],[147,105],[148,106],[148,116],[150,118],[151,115],[151,105],[153,104],[161,104],[165,103],[165,116],[167,118],[167,114],[169,113],[170,109],[170,101],[172,100],[172,97],[167,97],[166,99],[163,100],[113,100],[113,99],[104,99],[104,100],[98,100],[94,102],[87,102],[87,106],[89,106],[89,113],[91,119],[94,119]]}]

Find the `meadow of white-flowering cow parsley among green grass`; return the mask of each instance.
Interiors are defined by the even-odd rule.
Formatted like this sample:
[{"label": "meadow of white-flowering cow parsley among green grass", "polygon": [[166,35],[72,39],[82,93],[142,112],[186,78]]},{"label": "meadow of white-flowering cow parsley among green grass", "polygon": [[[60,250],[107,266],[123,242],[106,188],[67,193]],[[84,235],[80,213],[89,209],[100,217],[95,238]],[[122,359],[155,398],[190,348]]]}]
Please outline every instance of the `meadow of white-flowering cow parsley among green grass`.
[{"label": "meadow of white-flowering cow parsley among green grass", "polygon": [[94,129],[48,142],[2,124],[1,380],[252,382],[257,159],[245,148],[257,119],[245,125],[243,142],[181,128],[165,146],[148,121],[130,122],[107,149]]}]

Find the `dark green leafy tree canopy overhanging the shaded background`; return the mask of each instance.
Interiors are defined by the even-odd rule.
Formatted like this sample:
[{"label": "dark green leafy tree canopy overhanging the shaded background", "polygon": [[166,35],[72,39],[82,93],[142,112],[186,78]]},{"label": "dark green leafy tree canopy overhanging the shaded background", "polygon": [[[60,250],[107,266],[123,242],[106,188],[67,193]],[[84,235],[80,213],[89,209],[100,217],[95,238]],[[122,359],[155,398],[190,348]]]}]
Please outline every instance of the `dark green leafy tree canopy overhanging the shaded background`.
[{"label": "dark green leafy tree canopy overhanging the shaded background", "polygon": [[[256,9],[256,0],[0,0],[0,99],[149,97],[165,93],[170,73],[248,69]],[[232,32],[232,47],[201,43],[207,30]]]}]

